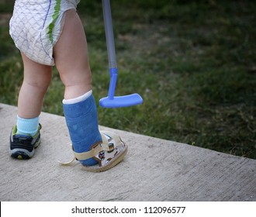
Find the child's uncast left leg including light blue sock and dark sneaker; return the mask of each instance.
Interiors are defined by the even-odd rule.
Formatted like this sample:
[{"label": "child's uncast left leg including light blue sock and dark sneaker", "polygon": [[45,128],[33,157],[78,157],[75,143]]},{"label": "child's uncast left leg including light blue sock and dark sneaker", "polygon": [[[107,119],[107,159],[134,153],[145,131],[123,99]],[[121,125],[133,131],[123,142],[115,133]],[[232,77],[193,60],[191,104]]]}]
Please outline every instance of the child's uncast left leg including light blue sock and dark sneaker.
[{"label": "child's uncast left leg including light blue sock and dark sneaker", "polygon": [[37,64],[22,53],[24,78],[19,91],[18,117],[12,129],[10,153],[13,158],[29,159],[40,145],[39,115],[50,84],[52,68]]}]

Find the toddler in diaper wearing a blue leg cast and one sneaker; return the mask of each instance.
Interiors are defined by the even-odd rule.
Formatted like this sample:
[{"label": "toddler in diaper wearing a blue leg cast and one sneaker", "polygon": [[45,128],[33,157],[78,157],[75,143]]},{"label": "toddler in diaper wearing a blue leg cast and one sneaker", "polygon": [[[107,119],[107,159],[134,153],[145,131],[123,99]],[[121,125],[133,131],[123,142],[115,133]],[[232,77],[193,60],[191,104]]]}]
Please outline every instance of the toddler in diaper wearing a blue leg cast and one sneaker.
[{"label": "toddler in diaper wearing a blue leg cast and one sneaker", "polygon": [[19,91],[10,154],[33,157],[40,144],[39,116],[56,66],[64,83],[63,108],[74,157],[87,171],[106,171],[126,155],[127,146],[112,132],[99,132],[92,95],[87,41],[76,7],[79,0],[16,0],[10,35],[20,50],[24,78]]}]

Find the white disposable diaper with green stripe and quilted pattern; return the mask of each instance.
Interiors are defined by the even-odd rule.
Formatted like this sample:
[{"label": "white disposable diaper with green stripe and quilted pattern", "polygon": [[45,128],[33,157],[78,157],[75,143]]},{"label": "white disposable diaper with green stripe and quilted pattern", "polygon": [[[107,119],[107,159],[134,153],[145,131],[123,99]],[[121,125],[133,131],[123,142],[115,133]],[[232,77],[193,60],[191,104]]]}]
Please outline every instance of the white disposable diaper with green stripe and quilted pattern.
[{"label": "white disposable diaper with green stripe and quilted pattern", "polygon": [[64,12],[80,0],[16,0],[9,33],[26,57],[54,66],[53,49],[64,25]]}]

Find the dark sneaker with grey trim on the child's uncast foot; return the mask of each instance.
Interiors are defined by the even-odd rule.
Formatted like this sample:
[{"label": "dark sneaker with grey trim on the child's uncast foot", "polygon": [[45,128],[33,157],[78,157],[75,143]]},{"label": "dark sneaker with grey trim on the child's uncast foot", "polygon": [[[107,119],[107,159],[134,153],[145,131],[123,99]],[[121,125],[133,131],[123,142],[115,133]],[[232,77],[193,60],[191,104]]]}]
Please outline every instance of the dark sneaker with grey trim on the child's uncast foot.
[{"label": "dark sneaker with grey trim on the child's uncast foot", "polygon": [[33,157],[36,147],[40,145],[41,128],[42,126],[39,125],[36,135],[29,136],[17,134],[17,126],[14,126],[10,136],[11,157],[19,160]]}]

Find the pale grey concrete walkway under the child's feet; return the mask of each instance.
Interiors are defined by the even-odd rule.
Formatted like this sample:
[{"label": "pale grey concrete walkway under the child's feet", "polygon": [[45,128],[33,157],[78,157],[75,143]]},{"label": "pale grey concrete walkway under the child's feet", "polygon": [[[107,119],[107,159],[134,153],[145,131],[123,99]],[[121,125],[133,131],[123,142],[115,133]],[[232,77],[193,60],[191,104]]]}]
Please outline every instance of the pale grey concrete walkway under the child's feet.
[{"label": "pale grey concrete walkway under the child's feet", "polygon": [[16,107],[0,108],[1,201],[256,201],[256,160],[116,129],[129,145],[121,164],[98,174],[61,166],[57,160],[72,157],[67,127],[47,113],[33,159],[13,160]]}]

